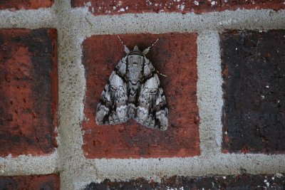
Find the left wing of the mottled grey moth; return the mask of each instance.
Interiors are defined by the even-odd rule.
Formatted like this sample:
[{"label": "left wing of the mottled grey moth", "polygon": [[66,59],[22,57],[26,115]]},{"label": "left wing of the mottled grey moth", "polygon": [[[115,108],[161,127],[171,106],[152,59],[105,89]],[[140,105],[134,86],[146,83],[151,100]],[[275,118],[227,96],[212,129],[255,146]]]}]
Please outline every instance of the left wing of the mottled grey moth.
[{"label": "left wing of the mottled grey moth", "polygon": [[124,82],[125,58],[120,60],[110,75],[97,106],[97,125],[115,125],[128,120],[127,85]]}]

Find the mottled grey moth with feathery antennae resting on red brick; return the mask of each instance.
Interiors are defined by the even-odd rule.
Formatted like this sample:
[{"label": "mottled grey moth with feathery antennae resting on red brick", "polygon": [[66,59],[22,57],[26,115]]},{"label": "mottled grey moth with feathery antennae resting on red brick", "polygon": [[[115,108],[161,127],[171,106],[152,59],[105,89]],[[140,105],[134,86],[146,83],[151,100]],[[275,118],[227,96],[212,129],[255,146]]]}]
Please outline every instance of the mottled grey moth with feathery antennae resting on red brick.
[{"label": "mottled grey moth with feathery antennae resting on red brick", "polygon": [[127,55],[115,66],[105,85],[97,107],[97,125],[115,125],[133,119],[145,127],[167,130],[165,95],[157,70],[145,57],[158,39],[144,51],[138,46],[130,51],[120,41]]}]

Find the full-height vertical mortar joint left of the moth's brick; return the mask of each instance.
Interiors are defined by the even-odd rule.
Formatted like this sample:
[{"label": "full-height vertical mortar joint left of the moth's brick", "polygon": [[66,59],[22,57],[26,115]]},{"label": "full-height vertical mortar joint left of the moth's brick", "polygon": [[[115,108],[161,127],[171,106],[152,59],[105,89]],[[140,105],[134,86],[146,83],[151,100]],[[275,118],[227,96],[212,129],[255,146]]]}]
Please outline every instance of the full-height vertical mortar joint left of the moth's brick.
[{"label": "full-height vertical mortar joint left of the moth's brick", "polygon": [[94,164],[84,157],[81,146],[83,136],[83,100],[86,92],[84,67],[81,62],[81,43],[89,35],[87,11],[72,9],[70,1],[56,0],[58,18],[58,73],[59,121],[58,147],[61,189],[75,189],[78,181],[94,179]]}]

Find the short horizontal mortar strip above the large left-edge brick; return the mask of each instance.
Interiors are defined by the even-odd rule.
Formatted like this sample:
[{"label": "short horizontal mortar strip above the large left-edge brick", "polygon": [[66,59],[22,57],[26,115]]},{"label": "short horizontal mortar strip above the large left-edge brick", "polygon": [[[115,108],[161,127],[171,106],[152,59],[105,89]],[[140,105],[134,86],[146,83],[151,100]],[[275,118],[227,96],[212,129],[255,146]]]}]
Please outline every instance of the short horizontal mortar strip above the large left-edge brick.
[{"label": "short horizontal mortar strip above the large left-edge brick", "polygon": [[19,11],[0,11],[0,28],[56,28],[53,8]]}]

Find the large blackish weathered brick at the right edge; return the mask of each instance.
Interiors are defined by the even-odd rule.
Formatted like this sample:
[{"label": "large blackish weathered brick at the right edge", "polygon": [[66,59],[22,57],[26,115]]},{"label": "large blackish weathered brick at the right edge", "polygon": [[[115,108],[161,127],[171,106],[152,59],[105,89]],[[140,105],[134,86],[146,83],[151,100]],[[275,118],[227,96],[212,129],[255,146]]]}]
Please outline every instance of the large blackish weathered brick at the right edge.
[{"label": "large blackish weathered brick at the right edge", "polygon": [[224,152],[284,152],[285,31],[220,37]]}]

